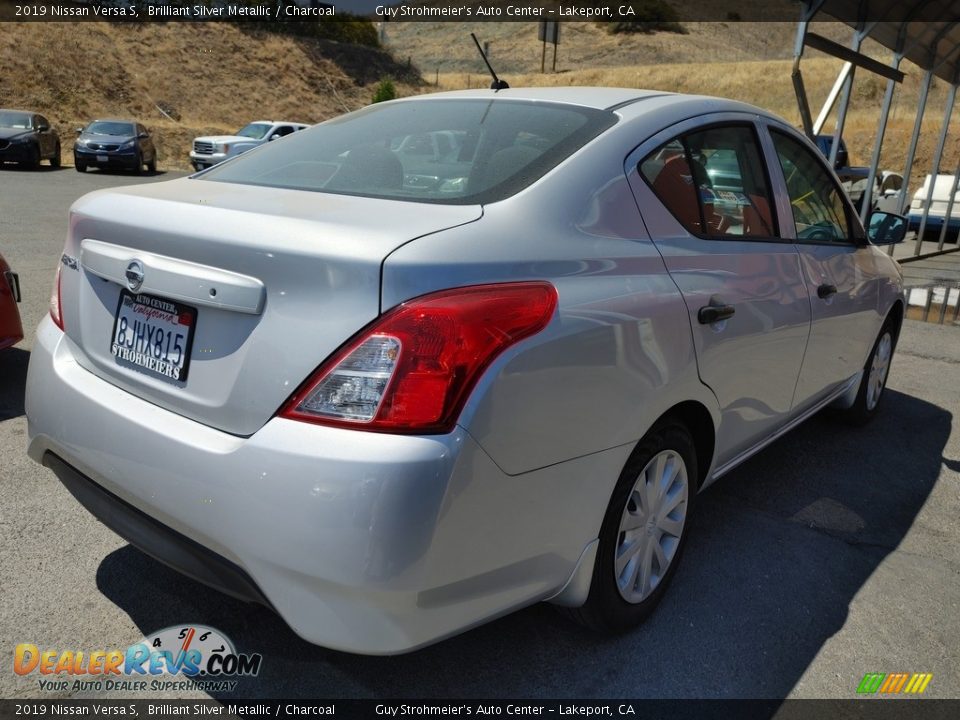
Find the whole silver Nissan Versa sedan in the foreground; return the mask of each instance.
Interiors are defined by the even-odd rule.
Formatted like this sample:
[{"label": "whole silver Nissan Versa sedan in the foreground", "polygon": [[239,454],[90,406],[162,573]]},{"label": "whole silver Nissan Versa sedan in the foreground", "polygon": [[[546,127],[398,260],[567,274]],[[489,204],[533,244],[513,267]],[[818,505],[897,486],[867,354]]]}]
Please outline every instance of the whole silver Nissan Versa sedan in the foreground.
[{"label": "whole silver Nissan Versa sedan in the foreground", "polygon": [[827,405],[877,412],[904,300],[875,243],[904,225],[865,230],[735,102],[378,104],[74,204],[30,456],[314,643],[399,653],[541,600],[622,630],[699,490]]}]

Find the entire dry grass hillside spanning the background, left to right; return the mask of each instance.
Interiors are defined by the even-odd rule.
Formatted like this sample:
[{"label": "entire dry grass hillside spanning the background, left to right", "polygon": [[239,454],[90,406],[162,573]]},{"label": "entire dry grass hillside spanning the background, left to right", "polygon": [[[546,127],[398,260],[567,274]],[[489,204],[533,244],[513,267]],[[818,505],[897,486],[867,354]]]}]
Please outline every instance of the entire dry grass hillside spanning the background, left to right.
[{"label": "entire dry grass hillside spanning the background, left to right", "polygon": [[[231,132],[251,119],[317,122],[370,102],[391,76],[400,94],[487,86],[469,33],[490,43],[498,72],[523,85],[611,85],[732,97],[799,123],[790,83],[793,23],[686,23],[687,34],[610,35],[594,23],[563,26],[556,74],[541,75],[536,23],[390,23],[386,50],[265,35],[229,24],[0,23],[0,106],[47,114],[69,162],[73,129],[94,117],[143,121],[157,136],[161,166],[187,167],[190,140]],[[817,32],[844,42],[849,31]],[[876,46],[866,51],[886,59]],[[392,53],[392,55],[390,54]],[[394,59],[396,58],[396,60]],[[548,67],[551,55],[548,53]],[[811,52],[803,60],[814,113],[840,62]],[[416,68],[423,73],[421,81]],[[905,65],[882,167],[901,171],[920,79]],[[845,137],[852,161],[867,164],[884,82],[857,75]],[[914,187],[929,171],[945,89],[928,105]],[[173,119],[165,117],[158,106]],[[958,111],[960,114],[960,111]],[[828,123],[832,130],[832,122]],[[949,139],[942,167],[960,157]]]}]

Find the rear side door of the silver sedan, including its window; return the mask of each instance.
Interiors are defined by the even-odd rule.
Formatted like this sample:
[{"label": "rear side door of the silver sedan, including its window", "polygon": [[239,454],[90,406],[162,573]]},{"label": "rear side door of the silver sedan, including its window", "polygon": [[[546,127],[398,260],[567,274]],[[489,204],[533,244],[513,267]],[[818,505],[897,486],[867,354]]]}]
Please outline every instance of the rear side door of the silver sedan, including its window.
[{"label": "rear side door of the silver sedan, including its window", "polygon": [[786,421],[810,328],[800,256],[779,236],[763,158],[753,118],[724,113],[673,126],[627,161],[721,406],[718,467]]}]

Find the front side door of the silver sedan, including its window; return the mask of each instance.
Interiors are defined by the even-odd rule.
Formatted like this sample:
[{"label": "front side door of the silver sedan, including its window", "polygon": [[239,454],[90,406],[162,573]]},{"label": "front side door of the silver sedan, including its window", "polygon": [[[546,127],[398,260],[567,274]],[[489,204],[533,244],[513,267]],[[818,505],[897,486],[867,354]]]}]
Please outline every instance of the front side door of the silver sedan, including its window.
[{"label": "front side door of the silver sedan, including its window", "polygon": [[815,404],[863,367],[880,329],[881,274],[863,227],[820,155],[771,125],[774,183],[790,200],[781,236],[795,240],[812,323],[795,404]]}]

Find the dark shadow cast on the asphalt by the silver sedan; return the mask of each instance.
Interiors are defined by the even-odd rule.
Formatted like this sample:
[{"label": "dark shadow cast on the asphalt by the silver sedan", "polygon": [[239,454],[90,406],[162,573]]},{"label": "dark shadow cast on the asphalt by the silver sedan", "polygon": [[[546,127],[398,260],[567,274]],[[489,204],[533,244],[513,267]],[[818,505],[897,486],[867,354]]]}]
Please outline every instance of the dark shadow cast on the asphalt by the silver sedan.
[{"label": "dark shadow cast on the asphalt by the silver sedan", "polygon": [[[951,414],[891,390],[884,405],[862,429],[821,413],[703,493],[663,604],[621,636],[596,635],[538,604],[415,653],[363,657],[311,645],[269,610],[209,590],[130,546],[104,558],[97,586],[144,634],[203,623],[239,652],[262,653],[260,675],[216,695],[224,701],[783,698],[842,628],[941,471]],[[903,451],[896,439],[917,427],[923,433],[911,433]]]}]

